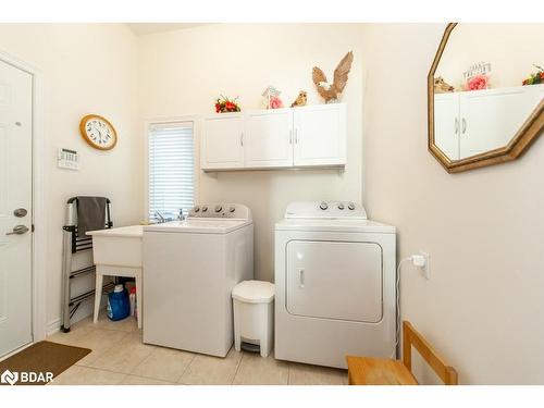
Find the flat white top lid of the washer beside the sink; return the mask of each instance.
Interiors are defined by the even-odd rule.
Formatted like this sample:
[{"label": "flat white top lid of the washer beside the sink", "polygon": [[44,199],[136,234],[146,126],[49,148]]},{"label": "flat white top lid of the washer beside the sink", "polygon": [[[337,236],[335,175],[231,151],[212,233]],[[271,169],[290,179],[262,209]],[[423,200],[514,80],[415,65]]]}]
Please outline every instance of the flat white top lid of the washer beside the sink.
[{"label": "flat white top lid of the washer beside the sink", "polygon": [[161,233],[194,233],[194,234],[227,234],[250,225],[250,220],[226,219],[186,219],[183,221],[164,222],[161,224],[144,226],[146,232]]}]

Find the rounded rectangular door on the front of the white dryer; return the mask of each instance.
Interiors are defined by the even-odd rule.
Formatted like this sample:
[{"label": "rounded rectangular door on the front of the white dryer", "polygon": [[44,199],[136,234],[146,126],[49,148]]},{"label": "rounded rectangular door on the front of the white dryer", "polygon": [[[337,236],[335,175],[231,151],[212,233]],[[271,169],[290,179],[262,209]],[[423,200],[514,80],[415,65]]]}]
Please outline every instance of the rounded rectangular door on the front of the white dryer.
[{"label": "rounded rectangular door on the front of the white dryer", "polygon": [[380,245],[292,240],[286,267],[289,313],[369,323],[382,319]]}]

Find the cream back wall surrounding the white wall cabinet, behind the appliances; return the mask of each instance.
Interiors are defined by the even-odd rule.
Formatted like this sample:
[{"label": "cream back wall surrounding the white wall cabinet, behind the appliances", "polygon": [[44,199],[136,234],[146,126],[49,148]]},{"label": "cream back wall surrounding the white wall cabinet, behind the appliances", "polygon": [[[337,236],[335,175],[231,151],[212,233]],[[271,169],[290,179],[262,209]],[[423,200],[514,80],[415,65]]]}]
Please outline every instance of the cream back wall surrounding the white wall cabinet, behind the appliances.
[{"label": "cream back wall surrounding the white wall cabinet, behind the appliances", "polygon": [[199,174],[199,199],[242,202],[254,211],[256,272],[273,279],[273,226],[293,200],[361,200],[362,53],[357,24],[219,24],[140,37],[141,115],[212,113],[220,94],[260,108],[268,85],[285,104],[300,89],[322,103],[311,82],[318,65],[332,78],[347,51],[355,60],[343,101],[348,107],[346,171],[247,171]]}]

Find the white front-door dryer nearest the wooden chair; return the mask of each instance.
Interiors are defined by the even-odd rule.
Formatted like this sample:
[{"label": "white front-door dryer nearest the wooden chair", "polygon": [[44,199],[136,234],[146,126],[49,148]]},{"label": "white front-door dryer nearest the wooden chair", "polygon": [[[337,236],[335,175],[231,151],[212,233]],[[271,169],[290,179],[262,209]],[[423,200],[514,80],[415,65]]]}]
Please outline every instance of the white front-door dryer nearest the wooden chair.
[{"label": "white front-door dryer nearest the wooden chair", "polygon": [[275,225],[275,358],[346,368],[395,351],[395,227],[353,202],[293,202]]}]

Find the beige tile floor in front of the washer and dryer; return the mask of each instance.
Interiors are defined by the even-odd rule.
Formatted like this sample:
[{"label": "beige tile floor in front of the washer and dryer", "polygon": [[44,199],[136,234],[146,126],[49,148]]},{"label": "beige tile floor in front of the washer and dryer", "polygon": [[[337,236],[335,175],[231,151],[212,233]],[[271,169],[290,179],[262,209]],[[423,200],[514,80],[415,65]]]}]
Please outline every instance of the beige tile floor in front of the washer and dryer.
[{"label": "beige tile floor in front of the washer and dryer", "polygon": [[133,318],[112,322],[101,314],[97,324],[87,318],[73,324],[70,333],[55,333],[48,341],[92,350],[52,385],[347,384],[345,370],[280,361],[273,356],[261,358],[232,348],[225,358],[217,358],[146,345]]}]

